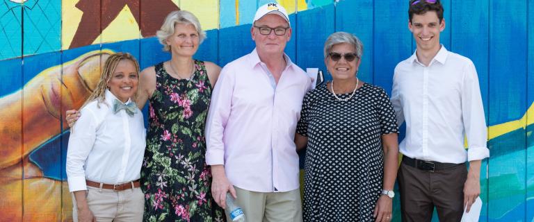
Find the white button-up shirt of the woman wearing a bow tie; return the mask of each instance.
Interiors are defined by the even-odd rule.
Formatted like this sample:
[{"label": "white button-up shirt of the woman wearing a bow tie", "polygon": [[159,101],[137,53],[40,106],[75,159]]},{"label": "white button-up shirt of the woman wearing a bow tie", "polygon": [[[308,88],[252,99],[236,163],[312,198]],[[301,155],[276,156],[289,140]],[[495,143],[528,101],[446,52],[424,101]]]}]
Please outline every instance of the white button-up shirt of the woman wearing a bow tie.
[{"label": "white button-up shirt of the woman wearing a bow tie", "polygon": [[[113,113],[116,97],[106,90],[105,103],[88,103],[70,131],[67,150],[69,190],[86,190],[86,179],[121,184],[140,178],[145,153],[143,113]],[[130,103],[131,101],[127,101]]]}]

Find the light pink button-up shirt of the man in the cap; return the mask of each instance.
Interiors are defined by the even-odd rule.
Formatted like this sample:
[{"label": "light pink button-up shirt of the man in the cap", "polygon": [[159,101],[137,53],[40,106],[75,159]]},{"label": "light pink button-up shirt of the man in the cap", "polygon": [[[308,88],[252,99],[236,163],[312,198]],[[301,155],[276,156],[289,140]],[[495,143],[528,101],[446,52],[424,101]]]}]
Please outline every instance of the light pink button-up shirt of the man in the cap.
[{"label": "light pink button-up shirt of the man in the cap", "polygon": [[[228,180],[259,192],[298,189],[295,129],[310,78],[288,56],[272,85],[256,49],[220,72],[206,123],[209,165],[224,164]],[[274,87],[273,87],[274,86]]]}]

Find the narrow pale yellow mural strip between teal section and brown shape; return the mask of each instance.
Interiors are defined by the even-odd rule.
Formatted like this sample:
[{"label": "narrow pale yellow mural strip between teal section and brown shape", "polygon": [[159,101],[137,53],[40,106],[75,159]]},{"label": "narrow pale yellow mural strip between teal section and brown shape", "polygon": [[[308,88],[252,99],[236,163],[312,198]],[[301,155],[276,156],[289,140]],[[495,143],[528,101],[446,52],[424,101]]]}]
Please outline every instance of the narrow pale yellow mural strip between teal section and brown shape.
[{"label": "narrow pale yellow mural strip between teal section and brown shape", "polygon": [[76,8],[78,0],[61,1],[61,49],[69,49],[83,14]]}]

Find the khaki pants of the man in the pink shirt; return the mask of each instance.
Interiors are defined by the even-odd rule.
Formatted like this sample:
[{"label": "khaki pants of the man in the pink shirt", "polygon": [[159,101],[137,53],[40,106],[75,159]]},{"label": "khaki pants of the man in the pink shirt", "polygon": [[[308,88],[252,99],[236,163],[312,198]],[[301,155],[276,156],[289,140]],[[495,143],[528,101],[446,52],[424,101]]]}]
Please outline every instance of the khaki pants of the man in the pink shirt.
[{"label": "khaki pants of the man in the pink shirt", "polygon": [[[300,189],[262,193],[235,187],[236,205],[243,209],[247,222],[302,222]],[[227,221],[230,220],[226,214]]]}]

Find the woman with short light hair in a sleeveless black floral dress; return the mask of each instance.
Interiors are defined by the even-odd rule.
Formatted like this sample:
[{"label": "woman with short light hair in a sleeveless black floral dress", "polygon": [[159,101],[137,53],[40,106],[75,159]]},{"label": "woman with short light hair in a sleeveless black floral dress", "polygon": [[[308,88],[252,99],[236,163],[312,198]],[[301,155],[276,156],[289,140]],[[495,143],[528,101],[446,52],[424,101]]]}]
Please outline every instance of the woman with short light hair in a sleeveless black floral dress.
[{"label": "woman with short light hair in a sleeveless black floral dress", "polygon": [[[220,67],[193,58],[206,34],[191,12],[171,12],[157,36],[171,59],[141,71],[136,100],[139,108],[149,101],[143,220],[223,221],[223,210],[211,198],[204,157],[204,124]],[[67,112],[67,121],[78,116]]]}]

